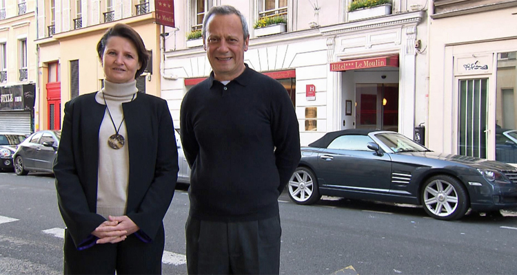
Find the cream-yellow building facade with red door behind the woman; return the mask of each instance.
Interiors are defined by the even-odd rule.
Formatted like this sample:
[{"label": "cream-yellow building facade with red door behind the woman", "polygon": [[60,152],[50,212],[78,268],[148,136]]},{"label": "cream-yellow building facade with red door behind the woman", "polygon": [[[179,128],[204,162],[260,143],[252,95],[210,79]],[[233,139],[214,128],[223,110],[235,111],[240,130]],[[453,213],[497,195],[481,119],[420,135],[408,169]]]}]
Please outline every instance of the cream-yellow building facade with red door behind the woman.
[{"label": "cream-yellow building facade with red door behind the woman", "polygon": [[61,129],[64,103],[102,88],[104,74],[96,47],[115,23],[131,25],[142,36],[151,59],[136,86],[160,96],[163,27],[154,23],[154,1],[37,0],[37,4],[37,129]]}]

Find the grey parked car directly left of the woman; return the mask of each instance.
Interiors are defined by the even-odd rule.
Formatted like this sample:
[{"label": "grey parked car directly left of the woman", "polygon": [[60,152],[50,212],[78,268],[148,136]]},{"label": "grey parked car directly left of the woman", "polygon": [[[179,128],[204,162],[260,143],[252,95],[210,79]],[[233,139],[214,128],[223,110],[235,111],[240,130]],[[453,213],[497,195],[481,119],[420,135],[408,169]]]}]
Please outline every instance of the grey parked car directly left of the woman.
[{"label": "grey parked car directly left of the woman", "polygon": [[61,131],[43,130],[29,135],[14,153],[14,172],[27,175],[29,171],[52,173]]}]

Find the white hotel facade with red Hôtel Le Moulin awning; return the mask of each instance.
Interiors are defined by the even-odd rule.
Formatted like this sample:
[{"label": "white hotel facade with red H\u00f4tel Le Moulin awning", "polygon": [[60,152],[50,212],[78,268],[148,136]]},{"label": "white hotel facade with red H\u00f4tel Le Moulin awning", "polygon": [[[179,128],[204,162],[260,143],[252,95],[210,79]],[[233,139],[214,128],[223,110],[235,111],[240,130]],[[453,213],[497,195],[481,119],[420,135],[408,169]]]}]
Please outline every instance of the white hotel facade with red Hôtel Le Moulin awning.
[{"label": "white hotel facade with red H\u00f4tel Le Moulin awning", "polygon": [[[245,63],[283,83],[296,109],[302,144],[350,128],[389,129],[413,137],[414,126],[425,122],[427,1],[393,0],[354,11],[349,11],[352,0],[174,4],[176,27],[181,27],[165,28],[168,79],[161,89],[176,125],[184,94],[211,72],[201,39],[187,36],[201,28],[213,5],[234,5],[247,18]],[[284,21],[256,28],[276,17]]]}]

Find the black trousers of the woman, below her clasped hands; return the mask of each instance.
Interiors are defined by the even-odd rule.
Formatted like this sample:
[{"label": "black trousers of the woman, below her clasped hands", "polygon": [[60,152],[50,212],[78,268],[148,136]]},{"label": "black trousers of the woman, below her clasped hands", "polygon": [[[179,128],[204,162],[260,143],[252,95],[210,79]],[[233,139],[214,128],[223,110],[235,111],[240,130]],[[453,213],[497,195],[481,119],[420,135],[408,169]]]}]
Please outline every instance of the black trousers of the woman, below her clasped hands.
[{"label": "black trousers of the woman, below her clasped hands", "polygon": [[85,250],[77,250],[65,231],[63,274],[115,274],[115,270],[118,275],[161,274],[164,245],[163,226],[150,243],[131,234],[120,243],[104,243]]}]

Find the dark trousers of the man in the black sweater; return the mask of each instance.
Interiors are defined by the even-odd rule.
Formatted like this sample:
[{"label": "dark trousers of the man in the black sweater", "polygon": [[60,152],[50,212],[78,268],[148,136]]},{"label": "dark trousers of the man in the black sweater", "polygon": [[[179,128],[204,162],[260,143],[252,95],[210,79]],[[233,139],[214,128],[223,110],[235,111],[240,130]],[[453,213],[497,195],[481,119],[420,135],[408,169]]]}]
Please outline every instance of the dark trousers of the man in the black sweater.
[{"label": "dark trousers of the man in the black sweater", "polygon": [[280,216],[260,221],[188,217],[188,274],[279,274]]}]

